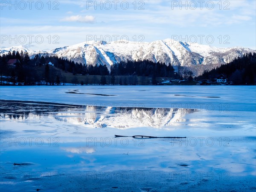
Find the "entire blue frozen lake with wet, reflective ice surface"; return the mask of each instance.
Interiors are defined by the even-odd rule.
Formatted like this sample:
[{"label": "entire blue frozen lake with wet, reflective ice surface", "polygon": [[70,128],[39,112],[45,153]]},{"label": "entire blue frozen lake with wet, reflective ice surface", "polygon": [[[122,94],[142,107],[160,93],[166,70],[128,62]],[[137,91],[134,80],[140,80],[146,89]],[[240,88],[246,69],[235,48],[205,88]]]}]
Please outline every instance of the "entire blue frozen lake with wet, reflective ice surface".
[{"label": "entire blue frozen lake with wet, reflective ice surface", "polygon": [[3,86],[0,99],[1,191],[256,189],[255,86]]}]

